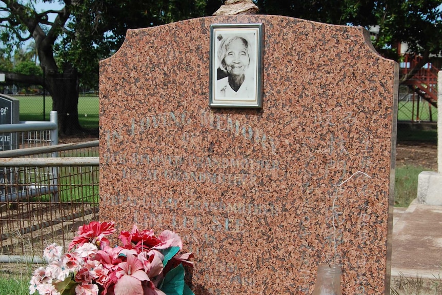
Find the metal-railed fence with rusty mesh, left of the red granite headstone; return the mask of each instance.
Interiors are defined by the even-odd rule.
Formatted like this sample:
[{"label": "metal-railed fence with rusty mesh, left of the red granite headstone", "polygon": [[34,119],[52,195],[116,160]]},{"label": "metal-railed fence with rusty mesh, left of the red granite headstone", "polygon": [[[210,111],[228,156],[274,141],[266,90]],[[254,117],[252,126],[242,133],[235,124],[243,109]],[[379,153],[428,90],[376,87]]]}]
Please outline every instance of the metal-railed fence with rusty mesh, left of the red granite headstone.
[{"label": "metal-railed fence with rusty mesh, left of the red granite headstone", "polygon": [[67,247],[79,225],[98,219],[98,141],[39,146],[54,143],[45,138],[0,151],[0,262],[35,262],[26,257],[41,257],[53,242]]}]

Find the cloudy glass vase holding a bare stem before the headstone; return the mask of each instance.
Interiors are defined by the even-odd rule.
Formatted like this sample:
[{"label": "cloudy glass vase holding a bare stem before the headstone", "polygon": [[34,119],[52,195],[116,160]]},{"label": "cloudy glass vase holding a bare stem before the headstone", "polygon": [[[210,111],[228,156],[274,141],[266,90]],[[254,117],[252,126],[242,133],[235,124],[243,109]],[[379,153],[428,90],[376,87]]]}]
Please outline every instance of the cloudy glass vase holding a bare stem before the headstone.
[{"label": "cloudy glass vase holding a bare stem before the headstone", "polygon": [[341,295],[340,276],[340,266],[319,264],[312,295]]}]

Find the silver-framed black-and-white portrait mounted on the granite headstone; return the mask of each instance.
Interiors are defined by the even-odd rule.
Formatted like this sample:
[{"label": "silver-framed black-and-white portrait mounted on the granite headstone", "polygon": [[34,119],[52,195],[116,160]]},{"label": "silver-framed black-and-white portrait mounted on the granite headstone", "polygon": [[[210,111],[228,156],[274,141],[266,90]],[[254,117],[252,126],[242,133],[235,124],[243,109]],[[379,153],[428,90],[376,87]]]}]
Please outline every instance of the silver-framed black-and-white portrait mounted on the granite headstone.
[{"label": "silver-framed black-and-white portrait mounted on the granite headstone", "polygon": [[210,107],[263,107],[263,24],[210,26]]}]

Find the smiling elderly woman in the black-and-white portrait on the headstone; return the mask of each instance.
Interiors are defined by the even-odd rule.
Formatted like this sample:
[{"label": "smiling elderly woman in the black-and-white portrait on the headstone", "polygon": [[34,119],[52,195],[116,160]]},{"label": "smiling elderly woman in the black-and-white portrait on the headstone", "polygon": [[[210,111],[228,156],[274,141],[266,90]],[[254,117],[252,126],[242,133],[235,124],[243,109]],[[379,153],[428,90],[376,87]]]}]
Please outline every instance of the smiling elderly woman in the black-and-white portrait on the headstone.
[{"label": "smiling elderly woman in the black-and-white portrait on the headstone", "polygon": [[218,80],[219,97],[252,97],[253,77],[247,75],[250,65],[250,46],[244,37],[223,38],[218,49],[219,68],[227,76]]}]

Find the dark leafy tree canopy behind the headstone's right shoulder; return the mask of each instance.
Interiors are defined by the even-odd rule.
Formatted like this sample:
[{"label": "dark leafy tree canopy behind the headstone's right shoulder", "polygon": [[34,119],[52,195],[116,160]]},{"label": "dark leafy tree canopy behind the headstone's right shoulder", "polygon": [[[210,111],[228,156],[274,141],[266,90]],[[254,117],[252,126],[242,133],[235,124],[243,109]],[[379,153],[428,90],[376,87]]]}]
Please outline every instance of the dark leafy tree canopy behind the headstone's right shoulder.
[{"label": "dark leafy tree canopy behind the headstone's right shoulder", "polygon": [[[373,45],[386,57],[400,61],[397,45],[405,42],[409,51],[423,59],[442,51],[442,0],[256,0],[263,14],[280,14],[335,25],[378,27]],[[413,75],[402,77],[407,80]]]}]

